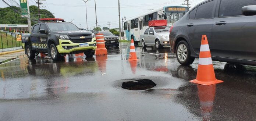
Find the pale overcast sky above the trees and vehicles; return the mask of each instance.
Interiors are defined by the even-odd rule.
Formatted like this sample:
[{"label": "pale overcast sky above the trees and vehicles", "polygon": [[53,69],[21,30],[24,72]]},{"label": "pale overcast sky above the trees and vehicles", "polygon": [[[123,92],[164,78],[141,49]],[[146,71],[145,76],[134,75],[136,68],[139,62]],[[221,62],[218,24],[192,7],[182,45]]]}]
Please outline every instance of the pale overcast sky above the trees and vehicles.
[{"label": "pale overcast sky above the trees and vehicles", "polygon": [[[14,5],[13,1],[19,3],[19,0],[4,0],[11,5]],[[85,0],[86,1],[86,0]],[[97,11],[97,22],[101,28],[104,26],[110,28],[119,28],[118,22],[118,0],[89,0],[87,4],[87,17],[88,17],[88,29],[96,27],[95,16],[95,1]],[[186,6],[182,5],[185,0],[120,0],[120,16],[131,18],[147,11],[149,9],[157,9],[163,6]],[[196,6],[196,4],[204,0],[189,0],[190,6]],[[29,6],[36,5],[35,0],[28,0]],[[86,29],[86,9],[85,2],[81,0],[45,0],[41,1],[47,9],[56,18],[64,18],[65,21],[71,22],[80,28]],[[17,5],[16,5],[17,6]],[[0,7],[8,7],[2,0],[0,0]],[[122,19],[121,19],[122,21]],[[121,22],[122,26],[122,22]]]}]

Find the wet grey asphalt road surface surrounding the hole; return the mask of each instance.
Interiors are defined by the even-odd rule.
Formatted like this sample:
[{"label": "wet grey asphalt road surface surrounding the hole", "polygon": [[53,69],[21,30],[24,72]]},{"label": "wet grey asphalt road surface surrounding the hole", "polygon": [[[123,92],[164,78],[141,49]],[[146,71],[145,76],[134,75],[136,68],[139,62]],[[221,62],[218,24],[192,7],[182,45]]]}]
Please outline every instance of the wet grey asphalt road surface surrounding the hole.
[{"label": "wet grey asphalt road surface surrounding the hole", "polygon": [[[214,61],[212,86],[189,83],[168,47],[109,48],[108,56],[19,58],[0,65],[0,121],[255,121],[256,67]],[[124,86],[126,89],[123,89]]]}]

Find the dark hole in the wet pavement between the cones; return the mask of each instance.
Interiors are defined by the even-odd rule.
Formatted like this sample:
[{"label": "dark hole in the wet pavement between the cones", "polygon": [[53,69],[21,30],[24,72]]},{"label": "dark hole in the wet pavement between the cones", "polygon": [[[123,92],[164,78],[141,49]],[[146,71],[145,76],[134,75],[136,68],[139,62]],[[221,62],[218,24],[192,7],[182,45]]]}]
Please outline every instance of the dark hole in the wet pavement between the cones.
[{"label": "dark hole in the wet pavement between the cones", "polygon": [[128,89],[128,90],[146,90],[146,89],[151,89],[154,86],[156,86],[156,83],[154,83],[149,79],[138,79],[138,80],[122,83],[122,88]]}]

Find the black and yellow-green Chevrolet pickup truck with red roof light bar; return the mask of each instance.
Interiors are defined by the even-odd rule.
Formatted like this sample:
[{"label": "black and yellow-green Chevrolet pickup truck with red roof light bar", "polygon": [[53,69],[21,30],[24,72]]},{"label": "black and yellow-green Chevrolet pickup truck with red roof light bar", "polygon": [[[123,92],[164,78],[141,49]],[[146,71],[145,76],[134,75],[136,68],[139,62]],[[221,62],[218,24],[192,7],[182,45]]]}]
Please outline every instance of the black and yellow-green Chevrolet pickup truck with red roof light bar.
[{"label": "black and yellow-green Chevrolet pickup truck with red roof light bar", "polygon": [[33,26],[31,35],[22,44],[29,59],[34,59],[36,53],[48,53],[54,61],[66,54],[84,53],[87,57],[95,54],[96,38],[92,32],[60,18],[40,21]]}]

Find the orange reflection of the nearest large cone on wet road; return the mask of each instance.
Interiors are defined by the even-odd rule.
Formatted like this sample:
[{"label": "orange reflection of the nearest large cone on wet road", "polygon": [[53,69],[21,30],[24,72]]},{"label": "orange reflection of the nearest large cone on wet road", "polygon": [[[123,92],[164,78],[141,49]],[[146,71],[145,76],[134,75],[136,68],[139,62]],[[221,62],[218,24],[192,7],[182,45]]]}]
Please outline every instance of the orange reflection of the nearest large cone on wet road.
[{"label": "orange reflection of the nearest large cone on wet road", "polygon": [[215,93],[216,93],[216,85],[210,85],[210,86],[198,85],[198,96],[200,100],[201,115],[202,115],[203,121],[210,120],[210,117],[211,117],[210,113],[212,112],[212,109],[213,109]]}]

